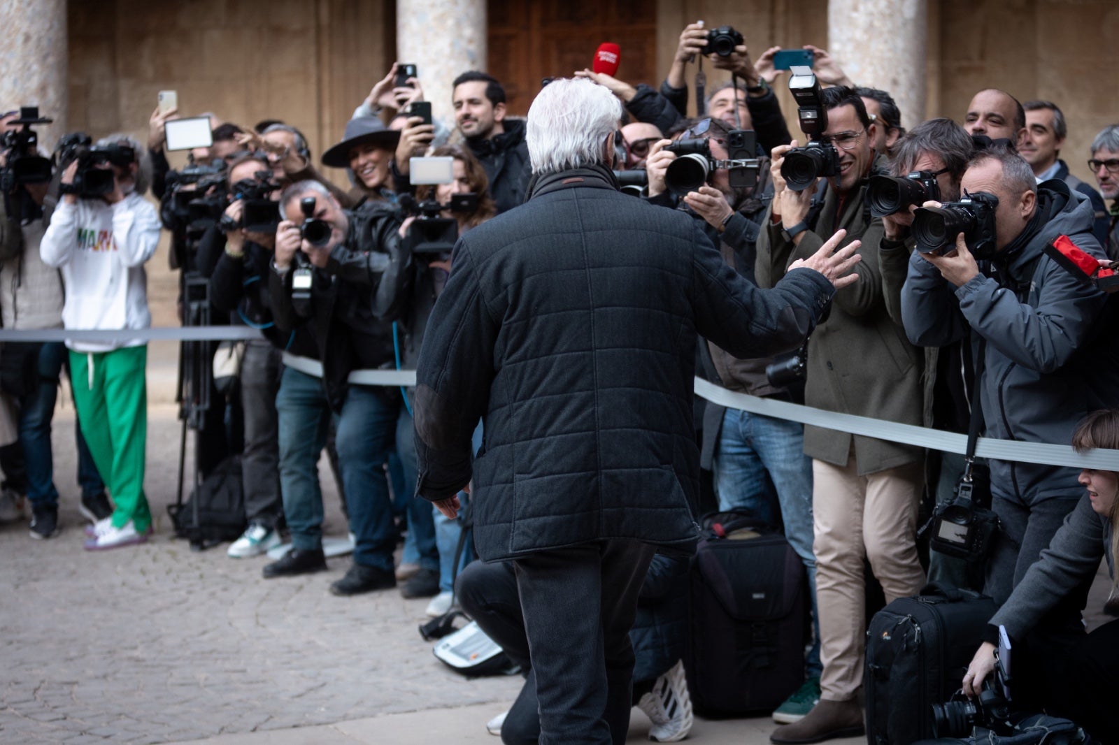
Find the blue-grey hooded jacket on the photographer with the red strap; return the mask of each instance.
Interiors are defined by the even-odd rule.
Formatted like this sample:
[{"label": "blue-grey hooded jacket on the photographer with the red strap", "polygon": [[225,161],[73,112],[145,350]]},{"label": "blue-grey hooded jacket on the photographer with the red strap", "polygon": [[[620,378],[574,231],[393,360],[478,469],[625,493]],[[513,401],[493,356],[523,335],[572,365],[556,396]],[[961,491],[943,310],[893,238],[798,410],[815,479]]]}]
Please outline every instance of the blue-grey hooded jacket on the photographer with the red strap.
[{"label": "blue-grey hooded jacket on the photographer with the red strap", "polygon": [[[1088,412],[1110,399],[1113,372],[1085,353],[1103,332],[1098,322],[1106,298],[1042,253],[1065,234],[1102,256],[1092,235],[1088,197],[1055,179],[1038,186],[1042,219],[1025,246],[1000,253],[1002,280],[979,274],[953,289],[918,252],[902,289],[902,319],[910,340],[941,347],[961,339],[968,326],[986,339],[980,386],[984,435],[1064,444]],[[1007,255],[1009,253],[1009,255]],[[1012,285],[1021,285],[1021,300]],[[977,340],[978,341],[978,340]],[[1079,353],[1078,353],[1079,350]],[[1081,488],[1073,469],[991,461],[993,489],[1028,500],[1070,498]]]}]

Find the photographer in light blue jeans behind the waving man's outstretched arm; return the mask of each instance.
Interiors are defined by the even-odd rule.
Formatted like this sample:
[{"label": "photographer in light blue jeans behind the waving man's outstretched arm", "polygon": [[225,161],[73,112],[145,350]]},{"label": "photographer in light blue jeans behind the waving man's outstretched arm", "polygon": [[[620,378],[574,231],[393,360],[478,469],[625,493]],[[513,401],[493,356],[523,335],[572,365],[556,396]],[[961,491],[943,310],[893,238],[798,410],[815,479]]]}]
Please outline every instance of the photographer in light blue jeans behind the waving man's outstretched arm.
[{"label": "photographer in light blue jeans behind the waving man's outstretched arm", "polygon": [[[711,157],[725,162],[733,131],[733,124],[721,119],[706,119],[686,131],[681,142],[693,138],[706,142]],[[668,188],[666,176],[676,176],[674,169],[679,168],[679,164],[674,166],[678,155],[671,148],[666,149],[667,144],[667,140],[655,144],[649,157],[649,200],[653,204],[664,204],[670,194],[665,191]],[[711,170],[707,183],[681,198],[681,208],[686,206],[703,220],[704,233],[713,245],[720,247],[723,261],[751,282],[754,281],[758,235],[768,192],[772,190],[769,159],[758,159],[753,168],[756,182],[751,187],[732,188],[731,171],[721,166]],[[667,180],[674,182],[673,178]],[[787,386],[798,383],[796,378],[774,381],[767,375],[767,368],[773,364],[772,358],[739,359],[712,342],[707,346],[717,383],[723,387],[763,398],[794,398]],[[786,538],[808,573],[812,617],[818,619],[816,556],[812,554],[812,466],[803,453],[803,426],[796,422],[707,403],[700,464],[714,473],[720,510],[750,512],[770,525],[784,526]],[[818,631],[816,636],[819,638]],[[774,718],[780,723],[799,720],[819,697],[818,643],[809,651],[806,668],[805,687],[774,711]]]}]

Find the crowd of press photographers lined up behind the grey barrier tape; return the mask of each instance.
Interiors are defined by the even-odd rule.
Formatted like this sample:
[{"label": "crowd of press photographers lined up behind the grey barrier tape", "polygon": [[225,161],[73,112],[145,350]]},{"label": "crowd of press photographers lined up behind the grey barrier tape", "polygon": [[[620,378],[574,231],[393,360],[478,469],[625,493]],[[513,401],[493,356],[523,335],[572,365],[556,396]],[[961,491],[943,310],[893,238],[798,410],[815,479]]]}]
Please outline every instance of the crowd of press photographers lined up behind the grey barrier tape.
[{"label": "crowd of press photographers lined up behind the grey barrier tape", "polygon": [[[773,92],[781,51],[754,59],[734,29],[693,23],[659,88],[575,73],[609,88],[627,111],[613,163],[619,186],[687,211],[726,263],[759,286],[772,286],[837,230],[846,232],[843,245],[861,243],[857,282],[836,295],[805,347],[740,360],[706,345],[702,374],[733,392],[826,412],[1012,441],[1069,443],[1090,412],[1115,407],[1119,365],[1107,329],[1116,309],[1100,289],[1109,285],[1107,260],[1119,260],[1119,125],[1100,132],[1089,153],[1101,197],[1061,159],[1068,123],[1055,103],[1021,104],[989,88],[960,112],[962,125],[933,119],[906,132],[887,92],[857,87],[827,51],[806,46],[812,69],[793,67],[789,82],[803,133],[793,138]],[[731,72],[733,82],[707,93],[697,76],[689,91],[685,73],[697,59]],[[685,113],[689,95],[697,117]],[[235,397],[227,400],[206,376],[205,390],[192,390],[210,400],[190,414],[206,433],[201,475],[241,453],[248,527],[229,556],[262,555],[285,531],[291,548],[263,567],[265,577],[326,568],[317,463],[327,450],[352,534],[350,568],[331,592],[402,583],[405,597],[432,597],[429,615],[449,611],[453,577],[470,563],[469,525],[411,499],[413,392],[374,380],[377,371],[415,367],[455,237],[521,204],[532,188],[525,122],[508,115],[500,83],[464,73],[452,103],[455,131],[448,132],[432,121],[414,66],[394,65],[321,157],[346,169],[348,189],[326,179],[303,135],[279,121],[215,121],[213,144],[172,171],[164,138],[173,107],[152,114],[145,145],[123,135],[94,145],[75,133],[50,161],[34,133],[46,120],[30,109],[6,115],[4,328],[117,333],[70,340],[68,350],[60,342],[4,347],[0,434],[12,444],[0,449],[0,518],[13,496],[26,494],[31,537],[58,532],[49,430],[66,367],[79,421],[82,511],[92,522],[86,548],[147,539],[145,343],[128,331],[150,326],[143,267],[167,229],[184,322],[262,331],[236,352]],[[144,199],[149,185],[158,210]],[[196,365],[211,365],[213,346],[191,349]],[[1116,647],[1107,643],[1115,632],[1085,636],[1080,622],[1094,567],[1103,556],[1112,564],[1119,535],[1113,475],[1109,487],[1093,488],[1087,471],[974,462],[698,400],[696,431],[712,474],[708,503],[698,509],[745,511],[781,526],[809,579],[814,644],[803,686],[773,714],[782,724],[773,742],[863,730],[868,582],[886,602],[937,582],[1027,606],[1028,624],[999,621],[1013,626],[1022,657],[1035,660],[1018,678],[1021,700],[1076,716],[1098,738],[1119,737],[1100,696],[1119,680]],[[477,443],[481,435],[479,423]],[[1097,423],[1078,442],[1116,447],[1117,436]],[[386,464],[399,469],[395,489]],[[951,517],[961,511],[966,519]],[[944,531],[946,521],[968,527]],[[918,539],[923,522],[933,526],[928,553]],[[1057,558],[1075,560],[1061,564],[1055,548],[1046,554],[1051,541],[1066,547]],[[664,591],[676,567],[667,559],[653,567]],[[1040,572],[1061,574],[1051,584],[1064,594]],[[509,600],[493,598],[507,581],[504,569],[471,565],[460,597],[480,623],[496,619],[487,631],[509,640],[517,657],[523,629],[491,612]],[[671,586],[658,594],[661,612],[686,602],[678,583]],[[669,641],[653,645],[660,661],[647,666],[634,691],[662,742],[690,726],[683,671],[674,666],[683,630],[678,614],[668,617]],[[980,641],[962,681],[970,692],[993,667],[995,628]],[[1049,675],[1054,659],[1062,670],[1075,669],[1070,660],[1092,662],[1070,680]],[[535,742],[524,715],[504,730],[498,718],[491,730],[505,742]]]}]

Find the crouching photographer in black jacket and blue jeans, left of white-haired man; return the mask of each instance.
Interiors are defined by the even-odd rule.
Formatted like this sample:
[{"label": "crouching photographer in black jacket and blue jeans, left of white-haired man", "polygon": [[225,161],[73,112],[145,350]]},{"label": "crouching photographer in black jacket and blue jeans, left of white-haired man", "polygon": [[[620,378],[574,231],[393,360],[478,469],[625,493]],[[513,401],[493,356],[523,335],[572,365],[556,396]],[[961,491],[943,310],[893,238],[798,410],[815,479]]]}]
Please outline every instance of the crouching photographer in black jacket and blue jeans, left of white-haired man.
[{"label": "crouching photographer in black jacket and blue jeans, left of white-haired man", "polygon": [[[265,566],[264,576],[326,568],[322,500],[308,485],[318,483],[316,462],[326,438],[325,389],[356,536],[354,564],[330,592],[355,595],[393,587],[396,529],[382,464],[393,443],[399,400],[392,388],[352,383],[350,374],[389,367],[394,360],[392,324],[379,317],[398,312],[399,285],[411,270],[411,258],[402,254],[399,215],[377,205],[344,210],[318,181],[288,187],[280,205],[286,219],[276,228],[269,273],[272,311],[281,329],[310,324],[322,377],[292,367],[284,371],[276,402],[280,478],[293,548]],[[438,582],[424,587],[410,582],[403,588],[405,597],[436,592]]]}]

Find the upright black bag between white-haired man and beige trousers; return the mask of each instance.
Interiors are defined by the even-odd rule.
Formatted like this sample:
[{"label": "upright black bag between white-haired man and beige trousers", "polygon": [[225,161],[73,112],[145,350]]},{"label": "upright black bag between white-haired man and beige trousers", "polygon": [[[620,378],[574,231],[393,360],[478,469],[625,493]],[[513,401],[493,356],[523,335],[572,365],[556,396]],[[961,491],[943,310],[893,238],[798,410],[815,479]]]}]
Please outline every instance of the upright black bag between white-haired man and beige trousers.
[{"label": "upright black bag between white-haired man and beige trousers", "polygon": [[764,522],[740,512],[704,519],[690,569],[684,666],[695,710],[772,711],[805,682],[808,577]]}]

